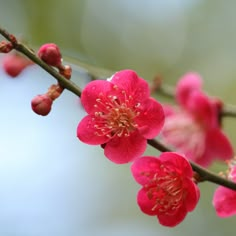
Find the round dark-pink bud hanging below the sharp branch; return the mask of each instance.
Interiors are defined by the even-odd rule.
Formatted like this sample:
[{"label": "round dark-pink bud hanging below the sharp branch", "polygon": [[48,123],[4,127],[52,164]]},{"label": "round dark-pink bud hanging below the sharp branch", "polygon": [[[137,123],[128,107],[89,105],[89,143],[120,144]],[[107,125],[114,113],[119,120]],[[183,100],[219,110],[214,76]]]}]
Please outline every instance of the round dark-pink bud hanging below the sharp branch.
[{"label": "round dark-pink bud hanging below the sharp branch", "polygon": [[47,95],[37,95],[31,101],[32,110],[41,116],[46,116],[52,107],[52,99]]}]

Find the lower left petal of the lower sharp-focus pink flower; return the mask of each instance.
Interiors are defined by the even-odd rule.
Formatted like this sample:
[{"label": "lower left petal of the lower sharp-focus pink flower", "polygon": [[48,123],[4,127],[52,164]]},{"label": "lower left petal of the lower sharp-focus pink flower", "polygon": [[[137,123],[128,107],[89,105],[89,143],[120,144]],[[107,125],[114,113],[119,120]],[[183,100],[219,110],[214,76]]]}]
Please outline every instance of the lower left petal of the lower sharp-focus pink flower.
[{"label": "lower left petal of the lower sharp-focus pink flower", "polygon": [[155,198],[149,199],[148,193],[144,188],[139,190],[137,195],[137,202],[140,207],[140,210],[143,213],[151,216],[158,214],[158,208],[155,208],[156,199]]}]

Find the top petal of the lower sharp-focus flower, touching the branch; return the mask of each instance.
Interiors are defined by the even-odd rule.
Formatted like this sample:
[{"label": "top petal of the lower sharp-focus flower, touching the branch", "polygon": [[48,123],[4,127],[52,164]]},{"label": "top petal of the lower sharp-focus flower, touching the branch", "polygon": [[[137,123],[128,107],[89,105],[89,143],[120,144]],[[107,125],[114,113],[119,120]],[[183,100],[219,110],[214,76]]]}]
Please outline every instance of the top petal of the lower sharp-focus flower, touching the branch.
[{"label": "top petal of the lower sharp-focus flower, touching the branch", "polygon": [[159,160],[164,165],[173,166],[173,169],[179,174],[182,173],[185,177],[192,178],[193,171],[187,159],[176,152],[163,152]]}]

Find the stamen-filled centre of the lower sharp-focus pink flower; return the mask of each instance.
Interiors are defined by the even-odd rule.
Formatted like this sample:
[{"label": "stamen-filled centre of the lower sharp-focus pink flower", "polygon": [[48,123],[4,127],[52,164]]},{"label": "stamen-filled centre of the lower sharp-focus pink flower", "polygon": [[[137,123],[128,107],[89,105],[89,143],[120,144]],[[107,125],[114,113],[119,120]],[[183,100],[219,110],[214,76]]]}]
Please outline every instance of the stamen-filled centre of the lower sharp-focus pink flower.
[{"label": "stamen-filled centre of the lower sharp-focus pink flower", "polygon": [[182,179],[175,172],[165,170],[162,176],[156,174],[146,187],[148,198],[155,200],[152,210],[159,213],[171,214],[182,205],[185,197]]}]

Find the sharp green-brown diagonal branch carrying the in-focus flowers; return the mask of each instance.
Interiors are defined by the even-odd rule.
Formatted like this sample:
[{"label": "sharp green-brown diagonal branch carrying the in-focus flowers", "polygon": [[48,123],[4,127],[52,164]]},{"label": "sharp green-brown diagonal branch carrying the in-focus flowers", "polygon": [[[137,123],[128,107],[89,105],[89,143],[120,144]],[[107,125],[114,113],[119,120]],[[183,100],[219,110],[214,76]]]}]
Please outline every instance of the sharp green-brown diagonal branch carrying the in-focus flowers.
[{"label": "sharp green-brown diagonal branch carrying the in-focus flowers", "polygon": [[[44,63],[42,60],[40,60],[32,50],[27,48],[24,44],[18,42],[18,40],[13,35],[9,34],[6,30],[2,29],[1,27],[0,27],[0,34],[3,35],[7,40],[9,40],[12,43],[14,49],[21,52],[26,57],[30,58],[33,62],[35,62],[40,67],[42,67],[45,71],[47,71],[49,74],[51,74],[60,83],[60,85],[62,87],[71,91],[72,93],[74,93],[77,96],[81,96],[81,89],[76,84],[74,84],[70,80],[67,80],[66,78],[61,76],[54,68],[48,66],[46,63]],[[169,91],[171,91],[171,90],[169,90]],[[163,90],[163,92],[164,92],[164,90]],[[154,140],[154,139],[148,140],[148,144],[161,152],[172,151],[171,149],[165,147],[160,142],[158,142],[157,140]],[[199,174],[200,181],[209,181],[212,183],[216,183],[216,184],[225,186],[225,187],[230,188],[232,190],[236,190],[236,183],[231,182],[225,178],[222,178],[222,177],[208,171],[205,168],[202,168],[201,166],[199,166],[191,161],[190,161],[190,164],[191,164],[193,170]]]}]

